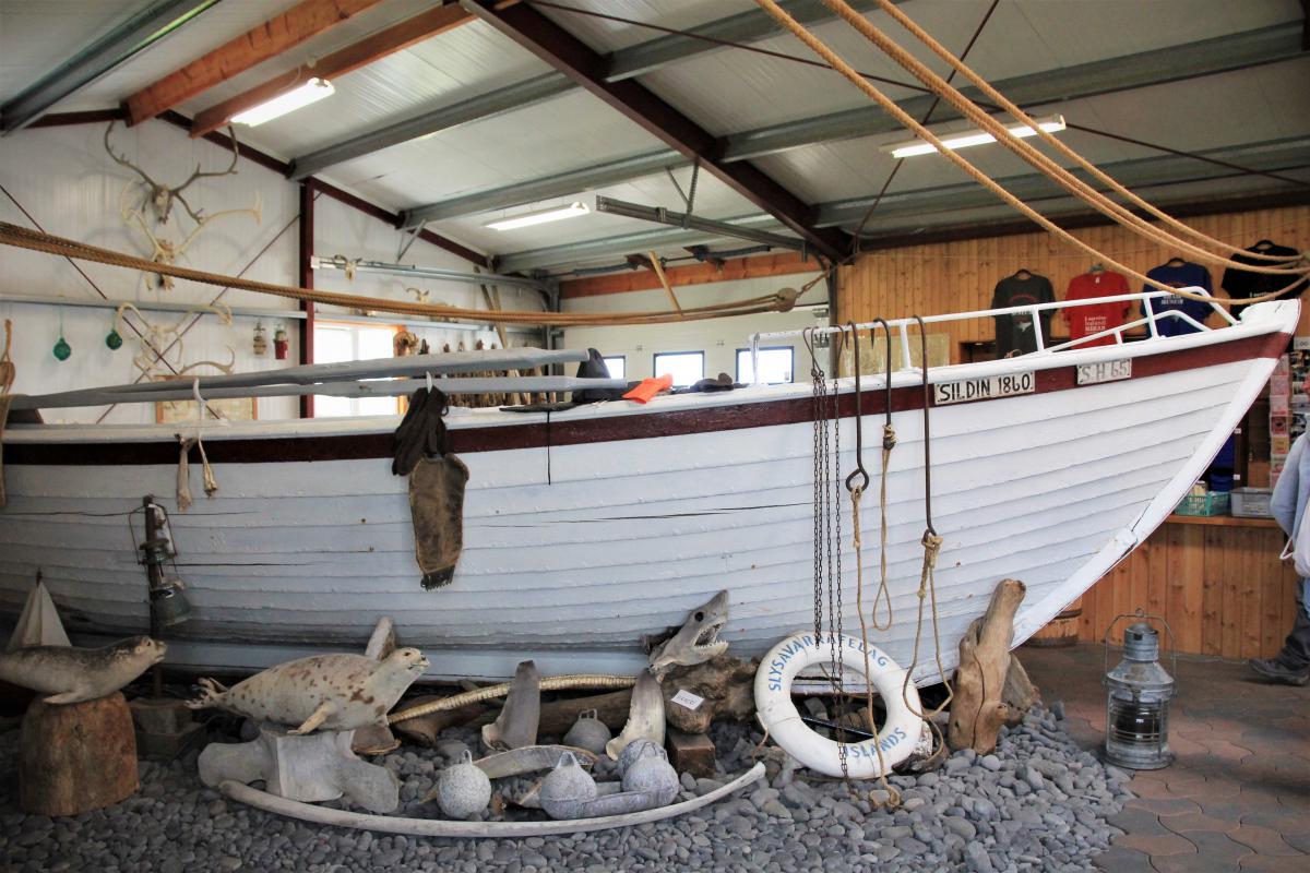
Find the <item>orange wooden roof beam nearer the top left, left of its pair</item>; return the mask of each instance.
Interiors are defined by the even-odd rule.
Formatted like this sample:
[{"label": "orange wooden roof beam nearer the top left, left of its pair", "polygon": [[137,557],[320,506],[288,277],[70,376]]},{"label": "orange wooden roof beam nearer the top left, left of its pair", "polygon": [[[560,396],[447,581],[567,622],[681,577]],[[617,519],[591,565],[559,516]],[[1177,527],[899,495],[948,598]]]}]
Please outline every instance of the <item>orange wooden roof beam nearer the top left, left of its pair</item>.
[{"label": "orange wooden roof beam nearer the top left, left of its pair", "polygon": [[379,3],[381,0],[301,0],[128,97],[127,124],[155,118]]}]

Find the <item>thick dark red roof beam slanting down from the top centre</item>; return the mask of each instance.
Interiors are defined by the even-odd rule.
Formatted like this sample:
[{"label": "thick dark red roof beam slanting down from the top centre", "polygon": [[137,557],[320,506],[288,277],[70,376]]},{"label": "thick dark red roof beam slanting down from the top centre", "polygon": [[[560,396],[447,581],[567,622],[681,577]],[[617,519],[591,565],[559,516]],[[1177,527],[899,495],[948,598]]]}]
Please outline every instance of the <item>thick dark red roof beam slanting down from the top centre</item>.
[{"label": "thick dark red roof beam slanting down from the top centre", "polygon": [[755,205],[777,216],[819,254],[831,259],[850,251],[850,237],[836,228],[815,228],[814,209],[749,161],[723,164],[722,141],[635,79],[605,81],[608,59],[527,3],[472,0],[466,8],[493,27],[605,101],[646,131],[727,183]]}]

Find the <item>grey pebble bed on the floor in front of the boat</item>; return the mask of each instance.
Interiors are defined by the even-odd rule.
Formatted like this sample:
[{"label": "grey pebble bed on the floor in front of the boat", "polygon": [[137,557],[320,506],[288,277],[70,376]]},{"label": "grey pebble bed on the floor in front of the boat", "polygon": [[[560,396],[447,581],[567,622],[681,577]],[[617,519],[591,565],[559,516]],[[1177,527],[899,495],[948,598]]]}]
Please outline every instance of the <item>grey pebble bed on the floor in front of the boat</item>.
[{"label": "grey pebble bed on the floor in front of the boat", "polygon": [[[141,789],[109,809],[51,821],[17,806],[18,732],[0,736],[0,869],[199,873],[202,870],[1090,870],[1120,831],[1106,822],[1132,794],[1129,775],[1079,750],[1060,705],[1003,733],[996,754],[952,755],[917,777],[895,776],[904,804],[871,810],[840,781],[769,767],[769,780],[697,813],[638,827],[516,840],[421,839],[314,827],[245,808],[204,788],[195,753],[140,763]],[[380,759],[401,779],[401,810],[436,817],[421,798],[472,732],[438,749],[403,746]],[[758,734],[717,725],[715,779],[683,776],[683,798],[713,791],[752,763]],[[609,764],[599,776],[612,776]],[[506,791],[508,780],[494,788]],[[861,783],[862,797],[876,783]],[[540,813],[514,813],[532,818]]]}]

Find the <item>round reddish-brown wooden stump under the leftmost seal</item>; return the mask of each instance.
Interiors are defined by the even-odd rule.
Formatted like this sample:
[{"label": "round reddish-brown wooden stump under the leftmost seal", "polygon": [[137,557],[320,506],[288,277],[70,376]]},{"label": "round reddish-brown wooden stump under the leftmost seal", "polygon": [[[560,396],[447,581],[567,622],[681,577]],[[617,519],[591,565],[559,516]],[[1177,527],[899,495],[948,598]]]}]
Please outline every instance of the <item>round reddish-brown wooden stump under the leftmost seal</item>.
[{"label": "round reddish-brown wooden stump under the leftmost seal", "polygon": [[18,804],[34,815],[77,815],[131,797],[136,737],[118,691],[64,705],[34,700],[22,719]]}]

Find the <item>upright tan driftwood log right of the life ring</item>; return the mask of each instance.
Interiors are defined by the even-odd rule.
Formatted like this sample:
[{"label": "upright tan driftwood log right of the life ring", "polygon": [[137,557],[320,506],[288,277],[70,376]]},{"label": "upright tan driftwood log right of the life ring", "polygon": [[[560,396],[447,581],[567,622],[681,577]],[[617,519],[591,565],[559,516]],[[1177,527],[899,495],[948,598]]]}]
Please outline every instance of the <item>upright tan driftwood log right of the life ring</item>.
[{"label": "upright tan driftwood log right of the life ring", "polygon": [[1024,592],[1023,582],[1017,579],[1000,582],[992,592],[986,613],[973,619],[960,639],[960,668],[955,673],[955,700],[946,730],[946,743],[952,751],[990,753],[1001,725],[1010,717],[1002,695],[1010,671],[1014,613]]}]

